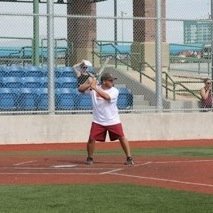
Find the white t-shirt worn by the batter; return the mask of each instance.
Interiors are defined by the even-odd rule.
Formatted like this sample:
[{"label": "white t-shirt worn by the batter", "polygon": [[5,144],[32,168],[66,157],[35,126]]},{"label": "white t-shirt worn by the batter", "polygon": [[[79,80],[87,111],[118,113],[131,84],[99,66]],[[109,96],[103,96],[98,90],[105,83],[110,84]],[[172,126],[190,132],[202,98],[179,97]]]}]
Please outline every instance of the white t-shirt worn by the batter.
[{"label": "white t-shirt worn by the batter", "polygon": [[[99,89],[103,90],[101,86]],[[115,87],[103,90],[110,96],[110,100],[105,100],[94,90],[90,91],[93,103],[93,122],[103,126],[109,126],[120,123],[120,118],[117,108],[117,99],[119,91]]]}]

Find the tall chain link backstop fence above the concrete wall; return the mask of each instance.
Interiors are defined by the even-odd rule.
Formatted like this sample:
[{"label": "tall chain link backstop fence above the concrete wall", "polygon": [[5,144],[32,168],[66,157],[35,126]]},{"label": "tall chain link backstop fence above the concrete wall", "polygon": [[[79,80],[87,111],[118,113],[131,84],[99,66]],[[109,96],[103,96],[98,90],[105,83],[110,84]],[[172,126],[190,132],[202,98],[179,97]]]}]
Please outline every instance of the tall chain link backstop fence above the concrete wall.
[{"label": "tall chain link backstop fence above the concrete wall", "polygon": [[[47,5],[35,14],[32,3],[0,4],[0,112],[48,113]],[[210,2],[162,0],[161,9],[162,111],[200,111],[203,79],[212,79]],[[55,113],[91,112],[73,69],[83,59],[118,78],[120,112],[158,111],[156,23],[155,1],[54,4]]]}]

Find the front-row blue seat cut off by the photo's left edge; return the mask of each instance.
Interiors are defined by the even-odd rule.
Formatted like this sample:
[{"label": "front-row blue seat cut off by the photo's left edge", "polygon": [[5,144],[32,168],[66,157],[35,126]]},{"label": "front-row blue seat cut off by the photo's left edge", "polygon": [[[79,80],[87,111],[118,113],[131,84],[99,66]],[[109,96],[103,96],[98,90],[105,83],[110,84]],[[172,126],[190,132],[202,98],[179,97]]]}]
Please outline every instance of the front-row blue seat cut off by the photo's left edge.
[{"label": "front-row blue seat cut off by the photo's left edge", "polygon": [[18,89],[0,88],[0,110],[16,110]]}]

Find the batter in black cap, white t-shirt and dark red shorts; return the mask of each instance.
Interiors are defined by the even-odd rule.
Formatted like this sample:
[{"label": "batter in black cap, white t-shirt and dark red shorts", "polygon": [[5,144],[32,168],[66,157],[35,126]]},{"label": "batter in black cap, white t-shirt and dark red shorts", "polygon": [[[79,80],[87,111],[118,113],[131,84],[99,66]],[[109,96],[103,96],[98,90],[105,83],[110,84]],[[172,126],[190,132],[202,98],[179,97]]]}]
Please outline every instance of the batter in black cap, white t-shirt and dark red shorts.
[{"label": "batter in black cap, white t-shirt and dark red shorts", "polygon": [[97,80],[93,78],[91,82],[87,81],[78,88],[80,92],[89,92],[93,103],[93,122],[87,143],[88,157],[86,164],[89,165],[93,164],[95,142],[104,142],[107,132],[111,141],[120,141],[126,155],[125,164],[134,164],[130,153],[129,142],[124,135],[118,114],[117,99],[119,91],[114,87],[115,79],[112,74],[104,73],[101,76],[100,84],[97,84]]}]

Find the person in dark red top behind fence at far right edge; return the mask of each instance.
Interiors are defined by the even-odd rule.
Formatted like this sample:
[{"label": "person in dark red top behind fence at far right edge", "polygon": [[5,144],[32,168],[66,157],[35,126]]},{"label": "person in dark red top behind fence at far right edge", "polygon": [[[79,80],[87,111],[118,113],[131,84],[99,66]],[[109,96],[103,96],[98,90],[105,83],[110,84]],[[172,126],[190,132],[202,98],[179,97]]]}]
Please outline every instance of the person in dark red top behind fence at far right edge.
[{"label": "person in dark red top behind fence at far right edge", "polygon": [[212,108],[212,82],[209,78],[204,79],[205,86],[200,90],[201,107],[205,108],[204,111],[210,111]]}]

